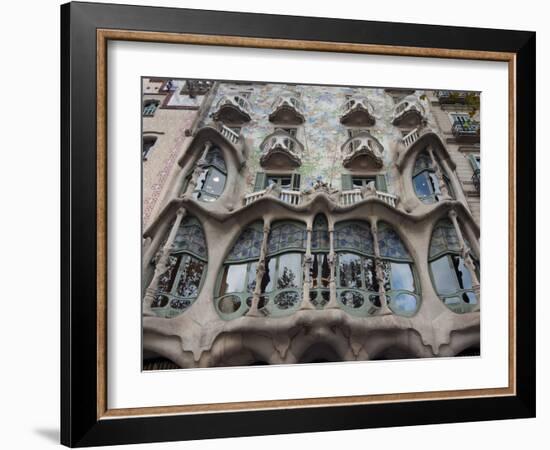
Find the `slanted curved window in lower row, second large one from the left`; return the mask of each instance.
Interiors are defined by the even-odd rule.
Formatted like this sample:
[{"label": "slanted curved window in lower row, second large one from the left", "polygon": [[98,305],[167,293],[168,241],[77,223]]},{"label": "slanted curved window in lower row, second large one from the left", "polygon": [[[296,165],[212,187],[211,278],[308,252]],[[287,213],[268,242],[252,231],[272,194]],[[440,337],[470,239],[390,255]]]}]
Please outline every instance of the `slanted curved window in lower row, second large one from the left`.
[{"label": "slanted curved window in lower row, second large one from the left", "polygon": [[216,308],[226,320],[246,314],[252,304],[262,241],[263,224],[254,222],[245,228],[225,258]]}]

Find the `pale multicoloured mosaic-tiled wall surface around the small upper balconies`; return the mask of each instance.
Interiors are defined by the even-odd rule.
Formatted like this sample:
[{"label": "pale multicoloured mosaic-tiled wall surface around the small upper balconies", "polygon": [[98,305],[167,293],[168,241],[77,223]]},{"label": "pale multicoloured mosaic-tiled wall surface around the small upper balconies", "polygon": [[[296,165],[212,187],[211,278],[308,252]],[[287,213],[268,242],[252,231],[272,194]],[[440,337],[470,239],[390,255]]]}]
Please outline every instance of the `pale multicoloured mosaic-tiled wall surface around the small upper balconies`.
[{"label": "pale multicoloured mosaic-tiled wall surface around the small upper balconies", "polygon": [[[346,94],[368,97],[374,107],[376,123],[368,127],[371,134],[384,146],[384,168],[388,179],[388,190],[392,192],[392,179],[396,176],[391,169],[395,157],[391,152],[396,142],[402,138],[400,130],[391,124],[391,117],[395,107],[394,99],[376,88],[348,88],[333,86],[284,85],[284,84],[250,84],[237,85],[221,82],[212,102],[212,113],[218,100],[227,93],[252,89],[248,101],[252,107],[251,121],[244,124],[242,134],[247,141],[251,155],[247,162],[247,182],[249,190],[253,189],[255,174],[262,170],[259,164],[262,152],[260,144],[266,136],[274,130],[269,121],[272,105],[279,94],[290,92],[301,93],[305,106],[305,123],[301,126],[302,134],[298,140],[304,145],[302,165],[298,169],[301,174],[302,188],[311,186],[319,177],[333,188],[339,189],[341,174],[347,171],[342,166],[343,155],[341,146],[348,139],[347,128],[340,123],[340,108],[346,101]],[[422,106],[426,110],[428,126],[437,129],[435,119],[430,112],[429,102],[423,91],[416,91]],[[212,123],[210,113],[203,117],[202,125]]]}]

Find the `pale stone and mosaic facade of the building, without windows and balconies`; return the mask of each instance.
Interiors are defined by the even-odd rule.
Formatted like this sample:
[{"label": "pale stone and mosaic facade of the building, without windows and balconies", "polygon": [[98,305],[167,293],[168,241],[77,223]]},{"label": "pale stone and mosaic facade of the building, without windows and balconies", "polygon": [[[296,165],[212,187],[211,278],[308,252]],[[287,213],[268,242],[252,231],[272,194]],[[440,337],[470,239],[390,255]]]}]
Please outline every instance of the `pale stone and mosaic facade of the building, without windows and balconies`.
[{"label": "pale stone and mosaic facade of the building, without windows and balconies", "polygon": [[[218,102],[227,94],[245,91],[249,92],[249,120],[239,126],[237,137],[221,127],[238,124],[234,116],[227,119],[229,116],[219,114]],[[304,145],[301,165],[281,170],[301,175],[300,188],[293,197],[297,200],[289,202],[280,192],[270,189],[251,199],[252,192],[258,190],[257,173],[266,170],[260,164],[265,155],[261,144],[274,131],[274,124],[269,121],[273,102],[279,94],[288,91],[300,94],[305,111],[305,123],[299,126],[297,134]],[[345,155],[341,147],[348,135],[340,121],[340,107],[346,95],[366,96],[373,107],[375,123],[362,128],[368,128],[370,135],[382,145],[381,167],[345,168],[343,165]],[[404,98],[412,99],[423,110],[420,123],[394,125],[395,108]],[[174,159],[170,162],[172,174],[165,182],[164,194],[158,203],[161,206],[149,217],[144,234],[144,358],[166,358],[179,367],[206,367],[305,362],[319,355],[324,360],[452,356],[479,347],[479,302],[460,314],[451,310],[436,292],[428,268],[432,231],[441,219],[454,220],[461,255],[465,259],[470,255],[479,257],[479,209],[476,212],[476,203],[468,195],[467,181],[471,175],[465,166],[467,160],[462,146],[454,143],[450,122],[445,122],[448,116],[436,103],[433,93],[220,82],[210,91],[209,99],[203,100],[198,114],[194,120],[189,118],[185,126],[177,120],[172,122],[171,126],[178,128],[173,136],[180,138],[176,139]],[[167,123],[164,125],[168,127]],[[185,136],[186,130],[191,134],[189,138]],[[196,186],[211,148],[222,155],[227,180],[216,201],[204,202],[198,200]],[[449,177],[454,198],[444,197],[434,204],[422,203],[417,198],[412,185],[413,167],[424,150],[429,150],[440,172]],[[351,203],[348,202],[341,177],[350,172],[386,174],[389,196],[369,188],[357,192]],[[301,303],[288,314],[281,311],[281,317],[275,318],[265,311],[259,314],[255,308],[246,307],[241,307],[242,314],[235,317],[220,314],[218,287],[224,261],[246,227],[258,222],[263,233],[262,246],[265,246],[270,227],[277,221],[297,221],[311,233],[313,220],[319,214],[327,218],[331,241],[329,303],[311,306],[306,276]],[[164,303],[159,301],[168,299],[165,294],[159,294],[159,280],[172,276],[169,275],[173,264],[171,255],[180,224],[189,218],[197,222],[197,233],[204,235],[202,274],[194,274],[200,277],[200,289],[191,300],[185,300],[185,304],[167,307],[164,300]],[[358,316],[338,303],[334,229],[335,224],[346,220],[368,222],[373,233],[378,224],[385,222],[400,236],[414,261],[420,298],[419,308],[412,316],[395,314],[387,304],[375,308],[373,313]],[[178,242],[177,246],[185,246],[181,240]],[[310,273],[311,252],[308,238],[301,259],[304,274]],[[381,264],[378,253],[375,260],[378,267]],[[266,267],[265,250],[261,251],[258,261],[255,276],[260,278],[256,278],[256,286]],[[471,258],[470,264],[473,264]],[[474,284],[479,296],[477,280]],[[383,297],[383,290],[380,292]],[[251,304],[257,306],[258,299],[258,289],[255,289],[251,293]],[[243,304],[241,302],[241,306]],[[318,343],[323,348],[315,347]],[[153,367],[157,366],[155,362]]]}]

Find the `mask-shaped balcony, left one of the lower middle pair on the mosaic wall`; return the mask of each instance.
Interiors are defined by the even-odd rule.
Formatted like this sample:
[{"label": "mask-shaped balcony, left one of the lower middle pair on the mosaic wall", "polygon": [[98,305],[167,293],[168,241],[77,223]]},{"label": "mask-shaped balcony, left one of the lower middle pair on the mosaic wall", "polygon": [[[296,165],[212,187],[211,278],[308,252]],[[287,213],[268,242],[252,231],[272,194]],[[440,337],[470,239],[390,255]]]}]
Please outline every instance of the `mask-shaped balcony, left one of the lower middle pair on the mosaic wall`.
[{"label": "mask-shaped balcony, left one of the lower middle pair on the mosaic wall", "polygon": [[283,169],[298,167],[302,164],[301,155],[304,146],[283,130],[276,130],[267,136],[260,145],[262,167]]}]

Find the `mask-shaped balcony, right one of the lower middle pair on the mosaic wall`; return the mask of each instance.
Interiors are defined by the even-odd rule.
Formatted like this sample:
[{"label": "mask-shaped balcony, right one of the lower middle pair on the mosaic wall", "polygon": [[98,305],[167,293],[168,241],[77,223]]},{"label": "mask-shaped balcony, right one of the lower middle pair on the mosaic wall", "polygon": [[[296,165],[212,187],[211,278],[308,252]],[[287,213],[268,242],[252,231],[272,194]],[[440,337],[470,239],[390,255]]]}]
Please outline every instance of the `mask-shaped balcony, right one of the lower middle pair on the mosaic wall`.
[{"label": "mask-shaped balcony, right one of the lower middle pair on the mosaic wall", "polygon": [[342,145],[343,165],[348,169],[379,169],[384,164],[382,161],[383,151],[384,147],[378,142],[378,139],[368,131],[363,131],[349,138]]}]

